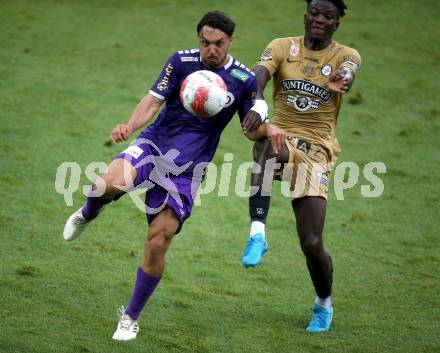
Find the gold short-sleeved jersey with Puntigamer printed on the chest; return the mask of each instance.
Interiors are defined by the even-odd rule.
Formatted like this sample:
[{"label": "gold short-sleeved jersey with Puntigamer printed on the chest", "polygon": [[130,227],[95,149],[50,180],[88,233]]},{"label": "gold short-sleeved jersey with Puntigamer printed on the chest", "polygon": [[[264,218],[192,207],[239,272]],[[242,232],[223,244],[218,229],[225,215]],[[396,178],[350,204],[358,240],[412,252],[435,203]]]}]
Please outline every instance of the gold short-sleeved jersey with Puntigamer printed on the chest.
[{"label": "gold short-sleeved jersey with Puntigamer printed on the chest", "polygon": [[256,63],[273,77],[272,122],[289,134],[324,146],[335,160],[340,152],[336,124],[342,95],[328,89],[329,77],[343,66],[356,72],[360,64],[355,49],[336,41],[315,51],[304,46],[304,37],[273,40]]}]

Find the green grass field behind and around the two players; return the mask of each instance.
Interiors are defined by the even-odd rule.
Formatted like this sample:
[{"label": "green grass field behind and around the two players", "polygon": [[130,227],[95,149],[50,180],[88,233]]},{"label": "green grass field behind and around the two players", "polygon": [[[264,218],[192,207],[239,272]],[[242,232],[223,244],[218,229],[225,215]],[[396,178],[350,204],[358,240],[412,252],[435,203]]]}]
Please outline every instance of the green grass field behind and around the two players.
[{"label": "green grass field behind and around the two players", "polygon": [[[331,333],[310,335],[314,291],[289,200],[275,187],[264,265],[246,271],[247,200],[204,195],[167,257],[138,339],[111,340],[132,291],[144,216],[128,197],[75,242],[58,166],[109,162],[105,147],[174,51],[197,45],[216,1],[0,1],[0,352],[439,352],[440,3],[347,0],[335,39],[363,66],[338,129],[338,162],[386,164],[385,191],[330,193],[326,246],[335,265]],[[275,37],[303,33],[304,1],[223,1],[237,22],[232,54],[248,65]],[[238,165],[251,143],[238,119],[215,156]],[[216,189],[218,190],[218,188]]]}]

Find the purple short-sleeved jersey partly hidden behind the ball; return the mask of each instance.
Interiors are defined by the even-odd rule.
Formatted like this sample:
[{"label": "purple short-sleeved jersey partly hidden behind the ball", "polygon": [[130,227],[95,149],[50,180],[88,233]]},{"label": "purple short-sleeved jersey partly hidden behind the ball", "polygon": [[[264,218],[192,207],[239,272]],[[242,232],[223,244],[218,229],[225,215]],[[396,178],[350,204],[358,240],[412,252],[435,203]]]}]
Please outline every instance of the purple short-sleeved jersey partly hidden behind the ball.
[{"label": "purple short-sleeved jersey partly hidden behind the ball", "polygon": [[[210,70],[221,76],[233,96],[227,106],[213,117],[198,118],[190,114],[179,98],[183,80],[199,70]],[[252,107],[255,92],[254,73],[232,56],[224,67],[209,69],[201,62],[199,49],[176,52],[168,59],[150,89],[150,94],[165,100],[166,104],[157,119],[139,137],[153,141],[161,154],[171,149],[179,151],[174,162],[179,166],[192,162],[185,171],[185,174],[191,173],[197,164],[212,160],[223,129],[237,112],[243,120]]]}]

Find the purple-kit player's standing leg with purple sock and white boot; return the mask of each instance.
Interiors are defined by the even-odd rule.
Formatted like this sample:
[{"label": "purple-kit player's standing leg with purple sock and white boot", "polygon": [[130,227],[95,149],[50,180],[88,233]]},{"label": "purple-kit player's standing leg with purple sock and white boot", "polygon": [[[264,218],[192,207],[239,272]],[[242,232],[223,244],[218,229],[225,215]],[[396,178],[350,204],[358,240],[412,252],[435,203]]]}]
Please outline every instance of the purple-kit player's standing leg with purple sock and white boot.
[{"label": "purple-kit player's standing leg with purple sock and white boot", "polygon": [[144,245],[144,257],[138,268],[133,295],[127,309],[120,309],[115,340],[132,340],[139,331],[137,319],[156,289],[165,269],[165,254],[179,229],[180,221],[166,207],[151,222]]}]

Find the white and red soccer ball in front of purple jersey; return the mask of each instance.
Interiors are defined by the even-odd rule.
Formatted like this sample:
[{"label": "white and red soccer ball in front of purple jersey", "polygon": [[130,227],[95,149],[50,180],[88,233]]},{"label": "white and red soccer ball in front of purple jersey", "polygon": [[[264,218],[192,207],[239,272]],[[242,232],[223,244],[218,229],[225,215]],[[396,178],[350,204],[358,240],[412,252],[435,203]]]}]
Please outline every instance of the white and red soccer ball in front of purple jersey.
[{"label": "white and red soccer ball in front of purple jersey", "polygon": [[188,75],[180,88],[180,100],[185,109],[198,117],[214,116],[225,107],[228,91],[216,73],[200,70]]}]

